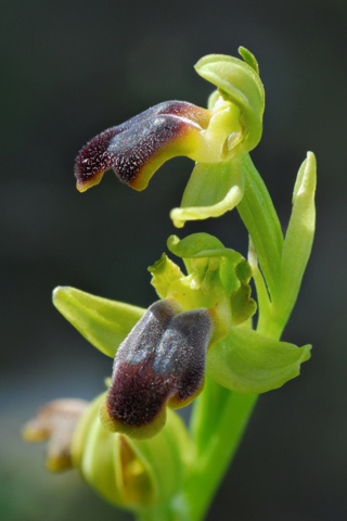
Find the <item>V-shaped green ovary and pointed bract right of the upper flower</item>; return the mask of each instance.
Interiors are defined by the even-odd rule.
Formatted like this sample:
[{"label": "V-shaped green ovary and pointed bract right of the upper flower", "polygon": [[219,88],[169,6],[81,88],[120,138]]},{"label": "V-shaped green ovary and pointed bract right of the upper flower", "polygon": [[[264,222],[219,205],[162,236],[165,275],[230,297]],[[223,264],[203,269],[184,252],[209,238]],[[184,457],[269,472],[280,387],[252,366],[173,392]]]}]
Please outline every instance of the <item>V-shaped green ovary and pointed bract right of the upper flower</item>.
[{"label": "V-shaped green ovary and pointed bract right of the upper flower", "polygon": [[[249,263],[258,295],[258,331],[275,339],[290,318],[312,247],[317,182],[316,157],[308,152],[294,187],[293,211],[285,238],[259,174],[248,162],[247,182],[253,190],[237,209],[249,236]],[[262,274],[258,269],[258,263]]]}]

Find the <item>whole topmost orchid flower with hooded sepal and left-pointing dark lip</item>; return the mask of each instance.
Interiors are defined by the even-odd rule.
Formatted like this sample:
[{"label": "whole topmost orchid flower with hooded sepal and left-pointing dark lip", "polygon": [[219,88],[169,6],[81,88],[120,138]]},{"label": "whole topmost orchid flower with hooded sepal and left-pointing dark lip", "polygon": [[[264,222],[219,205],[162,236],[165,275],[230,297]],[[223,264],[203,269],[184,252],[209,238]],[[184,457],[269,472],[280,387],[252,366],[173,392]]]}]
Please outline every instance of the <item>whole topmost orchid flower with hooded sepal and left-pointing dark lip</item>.
[{"label": "whole topmost orchid flower with hooded sepal and left-pointing dark lip", "polygon": [[76,160],[78,190],[98,185],[110,168],[123,182],[143,190],[163,163],[187,155],[197,165],[182,208],[171,214],[175,225],[234,207],[244,188],[235,158],[259,142],[265,106],[257,62],[246,49],[240,53],[244,61],[210,54],[195,65],[218,88],[208,109],[183,101],[159,103],[89,141]]}]

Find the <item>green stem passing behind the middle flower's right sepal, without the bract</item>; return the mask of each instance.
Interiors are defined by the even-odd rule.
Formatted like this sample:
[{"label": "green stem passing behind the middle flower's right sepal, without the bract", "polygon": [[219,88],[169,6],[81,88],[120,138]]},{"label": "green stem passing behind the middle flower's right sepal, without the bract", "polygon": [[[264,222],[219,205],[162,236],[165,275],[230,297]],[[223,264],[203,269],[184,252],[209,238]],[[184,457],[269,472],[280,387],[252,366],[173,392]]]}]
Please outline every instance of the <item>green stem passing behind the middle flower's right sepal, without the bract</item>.
[{"label": "green stem passing behind the middle flower's right sepal, without the bract", "polygon": [[[260,329],[262,334],[279,339],[283,325],[275,320],[274,312],[283,233],[269,192],[248,154],[240,157],[240,165],[245,173],[245,191],[237,209],[252,238],[267,285],[262,289],[265,305]],[[258,282],[262,280],[260,272],[258,279]],[[203,521],[236,453],[257,397],[229,391],[206,374],[204,392],[194,403],[191,433],[196,453],[182,493],[165,510],[146,510],[139,521]]]}]

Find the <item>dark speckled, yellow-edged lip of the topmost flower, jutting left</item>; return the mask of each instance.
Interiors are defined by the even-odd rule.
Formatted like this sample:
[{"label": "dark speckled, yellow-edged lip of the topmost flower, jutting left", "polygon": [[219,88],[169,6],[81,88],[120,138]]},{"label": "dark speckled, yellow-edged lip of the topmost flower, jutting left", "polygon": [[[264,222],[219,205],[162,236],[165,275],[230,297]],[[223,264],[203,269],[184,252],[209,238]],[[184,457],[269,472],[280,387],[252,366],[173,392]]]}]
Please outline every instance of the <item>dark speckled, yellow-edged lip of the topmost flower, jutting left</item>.
[{"label": "dark speckled, yellow-edged lip of the topmost flower, jutting left", "polygon": [[159,103],[103,131],[79,152],[75,164],[77,188],[98,185],[113,168],[119,179],[143,190],[153,173],[168,158],[189,150],[190,134],[207,127],[210,111],[183,101]]}]

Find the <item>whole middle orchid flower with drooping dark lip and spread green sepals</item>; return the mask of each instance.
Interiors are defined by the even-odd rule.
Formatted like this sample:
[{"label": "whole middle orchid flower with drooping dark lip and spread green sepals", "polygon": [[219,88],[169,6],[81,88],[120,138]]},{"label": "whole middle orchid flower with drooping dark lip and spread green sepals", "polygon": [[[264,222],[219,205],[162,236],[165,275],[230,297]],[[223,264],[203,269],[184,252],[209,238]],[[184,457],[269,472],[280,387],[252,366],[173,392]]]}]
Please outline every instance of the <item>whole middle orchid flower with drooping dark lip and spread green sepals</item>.
[{"label": "whole middle orchid flower with drooping dark lip and spread green sepals", "polygon": [[252,269],[242,255],[207,233],[171,237],[149,268],[160,301],[147,310],[57,288],[57,309],[100,351],[114,358],[101,405],[111,432],[144,440],[157,434],[167,408],[183,407],[203,390],[205,370],[221,385],[262,393],[299,374],[310,346],[297,347],[253,331]]}]

